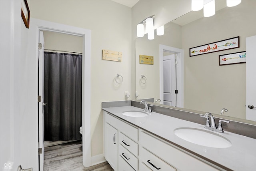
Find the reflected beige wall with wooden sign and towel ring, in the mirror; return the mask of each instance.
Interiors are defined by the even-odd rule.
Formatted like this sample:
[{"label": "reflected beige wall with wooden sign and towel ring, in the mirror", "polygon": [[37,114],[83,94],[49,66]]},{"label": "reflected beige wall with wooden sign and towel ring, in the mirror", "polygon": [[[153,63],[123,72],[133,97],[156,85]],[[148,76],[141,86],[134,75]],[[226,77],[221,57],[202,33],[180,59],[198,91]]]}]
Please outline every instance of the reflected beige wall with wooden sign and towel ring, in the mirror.
[{"label": "reflected beige wall with wooden sign and towel ring, in the mirror", "polygon": [[[159,44],[182,49],[181,26],[169,22],[164,25],[164,35],[155,35],[154,40],[148,40],[147,35],[137,38],[136,42],[136,91],[137,99],[160,99],[160,59]],[[140,64],[139,55],[154,56],[154,65]],[[146,76],[146,84],[140,82],[141,75]],[[144,80],[142,80],[144,81]]]}]

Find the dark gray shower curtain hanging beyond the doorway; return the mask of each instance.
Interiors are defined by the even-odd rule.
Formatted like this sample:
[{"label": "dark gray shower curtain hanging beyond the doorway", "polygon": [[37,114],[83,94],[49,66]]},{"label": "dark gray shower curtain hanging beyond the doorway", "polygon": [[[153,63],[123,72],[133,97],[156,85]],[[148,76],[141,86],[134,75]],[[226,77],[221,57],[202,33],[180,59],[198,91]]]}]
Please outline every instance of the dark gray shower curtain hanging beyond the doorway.
[{"label": "dark gray shower curtain hanging beyond the doorway", "polygon": [[82,55],[44,53],[44,140],[81,139]]}]

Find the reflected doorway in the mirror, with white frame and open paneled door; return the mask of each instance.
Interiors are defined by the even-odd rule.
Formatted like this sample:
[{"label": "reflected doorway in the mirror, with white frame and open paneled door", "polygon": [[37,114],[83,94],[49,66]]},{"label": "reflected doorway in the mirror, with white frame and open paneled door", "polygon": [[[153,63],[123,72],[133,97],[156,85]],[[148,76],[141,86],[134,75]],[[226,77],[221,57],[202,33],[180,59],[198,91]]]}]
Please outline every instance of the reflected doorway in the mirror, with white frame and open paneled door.
[{"label": "reflected doorway in the mirror, with white frame and open paneled door", "polygon": [[184,50],[160,44],[160,99],[174,107],[184,105]]}]

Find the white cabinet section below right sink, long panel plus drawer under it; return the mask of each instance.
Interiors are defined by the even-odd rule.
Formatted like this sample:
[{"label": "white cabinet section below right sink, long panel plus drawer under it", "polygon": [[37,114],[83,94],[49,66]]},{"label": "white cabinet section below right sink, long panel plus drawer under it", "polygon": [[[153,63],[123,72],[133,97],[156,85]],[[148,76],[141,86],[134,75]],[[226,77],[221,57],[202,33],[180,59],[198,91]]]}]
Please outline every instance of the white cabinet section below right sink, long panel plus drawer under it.
[{"label": "white cabinet section below right sink, long panel plus drawer under it", "polygon": [[[168,171],[218,171],[218,169],[204,163],[203,161],[184,153],[169,143],[160,140],[150,133],[140,132],[140,162],[143,162],[152,170],[154,167]],[[139,168],[140,169],[140,168]]]}]

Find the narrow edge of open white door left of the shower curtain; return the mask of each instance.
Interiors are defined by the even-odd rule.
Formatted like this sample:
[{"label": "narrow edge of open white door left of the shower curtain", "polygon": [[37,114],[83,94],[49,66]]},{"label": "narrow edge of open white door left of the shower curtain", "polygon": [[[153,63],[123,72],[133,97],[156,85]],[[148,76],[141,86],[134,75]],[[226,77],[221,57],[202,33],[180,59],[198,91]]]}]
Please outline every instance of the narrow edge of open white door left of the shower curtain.
[{"label": "narrow edge of open white door left of the shower curtain", "polygon": [[39,155],[40,171],[44,170],[44,34],[39,32],[39,64],[38,64],[38,148],[42,149],[42,154]]}]

